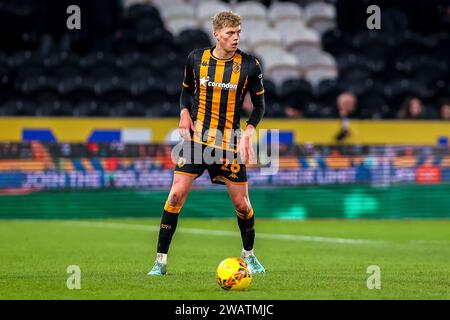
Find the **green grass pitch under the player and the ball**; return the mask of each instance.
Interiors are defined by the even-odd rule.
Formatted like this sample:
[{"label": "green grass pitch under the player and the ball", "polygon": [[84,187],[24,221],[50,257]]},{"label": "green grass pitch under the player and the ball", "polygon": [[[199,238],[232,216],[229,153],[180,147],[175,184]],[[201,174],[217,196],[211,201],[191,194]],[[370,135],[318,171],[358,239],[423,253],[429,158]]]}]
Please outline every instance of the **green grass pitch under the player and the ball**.
[{"label": "green grass pitch under the player and the ball", "polygon": [[[235,219],[183,219],[166,277],[149,277],[159,219],[0,221],[1,299],[450,299],[449,220],[256,219],[267,269],[244,292],[215,282],[238,256]],[[258,237],[259,235],[259,237]],[[365,241],[361,241],[365,240]],[[66,286],[69,265],[81,289]],[[378,265],[381,289],[367,288]]]}]

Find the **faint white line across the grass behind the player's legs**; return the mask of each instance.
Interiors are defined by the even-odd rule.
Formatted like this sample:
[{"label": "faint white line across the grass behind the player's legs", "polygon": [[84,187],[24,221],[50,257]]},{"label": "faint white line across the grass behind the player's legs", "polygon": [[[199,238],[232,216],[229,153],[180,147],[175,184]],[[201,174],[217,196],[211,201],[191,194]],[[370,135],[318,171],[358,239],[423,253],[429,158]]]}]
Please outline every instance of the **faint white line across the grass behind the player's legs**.
[{"label": "faint white line across the grass behind the player's legs", "polygon": [[[109,229],[127,229],[127,230],[142,230],[142,231],[159,231],[159,226],[148,226],[142,224],[128,224],[128,223],[115,223],[115,222],[90,222],[90,221],[73,221],[67,222],[66,225],[81,226],[81,227],[97,227],[97,228],[109,228]],[[211,229],[198,229],[198,228],[178,228],[177,232],[200,234],[200,235],[212,235],[212,236],[225,236],[236,237],[238,232],[225,231],[225,230],[211,230]],[[304,236],[293,234],[280,234],[280,233],[257,233],[258,239],[278,239],[278,240],[297,240],[297,241],[313,241],[313,242],[326,242],[326,243],[344,243],[344,244],[370,244],[379,243],[377,240],[360,240],[360,239],[347,239],[347,238],[334,238],[334,237],[317,237],[317,236]]]}]

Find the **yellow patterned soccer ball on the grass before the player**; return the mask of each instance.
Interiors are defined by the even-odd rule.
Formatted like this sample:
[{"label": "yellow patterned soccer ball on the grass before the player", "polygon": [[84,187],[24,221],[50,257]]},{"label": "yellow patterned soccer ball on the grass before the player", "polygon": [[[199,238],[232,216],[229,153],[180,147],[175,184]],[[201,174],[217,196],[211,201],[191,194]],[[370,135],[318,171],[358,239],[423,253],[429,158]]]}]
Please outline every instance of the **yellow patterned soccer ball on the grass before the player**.
[{"label": "yellow patterned soccer ball on the grass before the player", "polygon": [[252,272],[244,259],[227,258],[217,267],[216,280],[224,290],[245,290],[252,282]]}]

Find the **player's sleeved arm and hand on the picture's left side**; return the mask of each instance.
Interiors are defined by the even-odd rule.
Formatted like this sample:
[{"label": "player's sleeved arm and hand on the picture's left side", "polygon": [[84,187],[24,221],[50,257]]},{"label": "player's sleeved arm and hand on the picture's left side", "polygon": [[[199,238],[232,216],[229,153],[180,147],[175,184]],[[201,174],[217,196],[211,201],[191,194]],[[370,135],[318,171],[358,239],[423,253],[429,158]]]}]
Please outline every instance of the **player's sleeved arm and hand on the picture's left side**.
[{"label": "player's sleeved arm and hand on the picture's left side", "polygon": [[195,78],[194,78],[194,53],[191,52],[184,66],[184,80],[180,95],[180,136],[185,140],[191,140],[190,130],[194,131],[194,123],[192,121],[190,110],[193,105],[195,94]]}]

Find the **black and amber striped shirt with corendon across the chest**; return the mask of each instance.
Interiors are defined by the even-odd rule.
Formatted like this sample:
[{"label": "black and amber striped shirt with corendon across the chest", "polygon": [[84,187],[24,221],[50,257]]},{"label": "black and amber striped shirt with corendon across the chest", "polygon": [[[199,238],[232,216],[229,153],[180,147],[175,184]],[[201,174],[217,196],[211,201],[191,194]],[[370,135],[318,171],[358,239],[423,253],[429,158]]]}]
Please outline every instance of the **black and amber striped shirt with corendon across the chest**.
[{"label": "black and amber striped shirt with corendon across the chest", "polygon": [[[247,123],[257,126],[264,114],[264,86],[259,61],[239,49],[229,59],[213,55],[214,47],[192,51],[186,61],[181,108],[194,121],[193,140],[221,149],[236,150],[244,97],[254,105]],[[186,93],[189,98],[186,98]],[[183,96],[184,95],[184,96]]]}]

